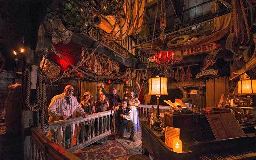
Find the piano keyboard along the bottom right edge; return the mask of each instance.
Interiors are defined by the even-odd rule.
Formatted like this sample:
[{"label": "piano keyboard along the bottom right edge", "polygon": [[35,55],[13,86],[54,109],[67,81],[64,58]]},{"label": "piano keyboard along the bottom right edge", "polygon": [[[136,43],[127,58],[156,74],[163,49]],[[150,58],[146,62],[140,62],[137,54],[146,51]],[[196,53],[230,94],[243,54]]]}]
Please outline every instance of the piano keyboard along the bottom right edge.
[{"label": "piano keyboard along the bottom right edge", "polygon": [[241,152],[226,152],[226,153],[213,153],[206,154],[196,159],[201,160],[237,160],[237,159],[256,159],[256,150],[241,151]]}]

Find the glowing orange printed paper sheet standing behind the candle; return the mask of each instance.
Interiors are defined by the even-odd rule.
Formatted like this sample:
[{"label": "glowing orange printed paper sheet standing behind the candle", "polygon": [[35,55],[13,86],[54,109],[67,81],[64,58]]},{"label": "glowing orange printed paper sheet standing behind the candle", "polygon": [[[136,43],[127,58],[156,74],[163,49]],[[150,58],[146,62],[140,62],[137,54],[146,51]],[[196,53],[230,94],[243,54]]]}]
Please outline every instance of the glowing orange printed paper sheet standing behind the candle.
[{"label": "glowing orange printed paper sheet standing behind the candle", "polygon": [[174,138],[180,139],[180,128],[166,127],[164,143],[168,147],[173,148]]}]

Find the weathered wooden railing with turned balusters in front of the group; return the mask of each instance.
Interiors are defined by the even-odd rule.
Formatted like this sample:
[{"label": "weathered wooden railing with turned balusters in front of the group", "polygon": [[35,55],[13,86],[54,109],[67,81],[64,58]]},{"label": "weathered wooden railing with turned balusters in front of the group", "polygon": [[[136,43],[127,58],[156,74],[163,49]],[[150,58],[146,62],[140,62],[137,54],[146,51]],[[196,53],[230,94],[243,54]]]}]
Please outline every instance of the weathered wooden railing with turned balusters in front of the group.
[{"label": "weathered wooden railing with turned balusters in front of the group", "polygon": [[[57,144],[57,130],[61,129],[62,130],[62,148],[74,152],[78,149],[81,149],[83,147],[86,147],[108,135],[111,134],[111,127],[110,127],[110,115],[112,115],[113,112],[111,111],[104,111],[104,112],[99,112],[95,113],[92,115],[89,115],[86,118],[83,117],[77,117],[77,118],[71,118],[67,119],[65,121],[56,121],[54,123],[51,123],[49,127],[46,129],[46,131],[52,130],[54,132],[54,142]],[[101,119],[101,123],[99,123]],[[104,121],[104,120],[105,121]],[[95,124],[95,121],[97,124]],[[108,121],[108,122],[107,122]],[[105,123],[105,127],[103,128],[103,122]],[[79,142],[79,125],[83,125],[81,128],[82,132],[82,142]],[[73,131],[72,131],[72,126],[75,125],[76,129],[76,144],[73,146],[72,144],[72,139],[73,139]],[[95,125],[97,126],[98,129],[95,130]],[[70,147],[66,148],[65,147],[65,128],[67,126],[70,126]],[[87,135],[85,135],[85,130],[87,127]],[[100,129],[99,129],[100,128]],[[100,132],[100,131],[101,132]],[[85,140],[85,137],[87,137],[87,140]]]}]

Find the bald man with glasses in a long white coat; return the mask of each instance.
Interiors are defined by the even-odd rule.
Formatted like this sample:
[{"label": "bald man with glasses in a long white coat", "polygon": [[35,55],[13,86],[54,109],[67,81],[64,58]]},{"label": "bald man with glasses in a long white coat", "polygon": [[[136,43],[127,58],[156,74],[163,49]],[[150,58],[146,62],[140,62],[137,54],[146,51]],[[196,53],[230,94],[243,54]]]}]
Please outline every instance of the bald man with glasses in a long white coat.
[{"label": "bald man with glasses in a long white coat", "polygon": [[[57,120],[66,120],[68,118],[76,117],[76,112],[80,113],[83,117],[87,117],[88,115],[81,108],[79,103],[77,102],[76,97],[72,96],[74,92],[74,87],[71,85],[67,85],[62,94],[54,96],[51,100],[51,103],[48,108],[48,112],[50,114],[49,123],[53,123]],[[75,125],[72,126],[73,135],[75,131]],[[52,135],[54,133],[48,132],[48,137],[52,139]],[[70,141],[70,126],[66,126],[65,129],[65,147],[68,147]],[[62,129],[58,129],[57,131],[57,143],[62,142]]]}]

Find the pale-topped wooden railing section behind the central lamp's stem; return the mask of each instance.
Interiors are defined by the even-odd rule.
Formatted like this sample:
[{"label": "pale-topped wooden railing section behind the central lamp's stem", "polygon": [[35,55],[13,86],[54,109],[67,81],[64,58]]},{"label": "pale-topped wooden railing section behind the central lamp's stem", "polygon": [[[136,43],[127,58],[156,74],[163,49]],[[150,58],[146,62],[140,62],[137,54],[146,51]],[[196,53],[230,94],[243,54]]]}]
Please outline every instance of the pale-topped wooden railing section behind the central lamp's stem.
[{"label": "pale-topped wooden railing section behind the central lamp's stem", "polygon": [[[139,118],[148,118],[150,116],[150,113],[157,113],[157,105],[145,105],[140,104],[138,106],[139,111]],[[159,112],[169,112],[170,107],[168,106],[159,106]]]}]

